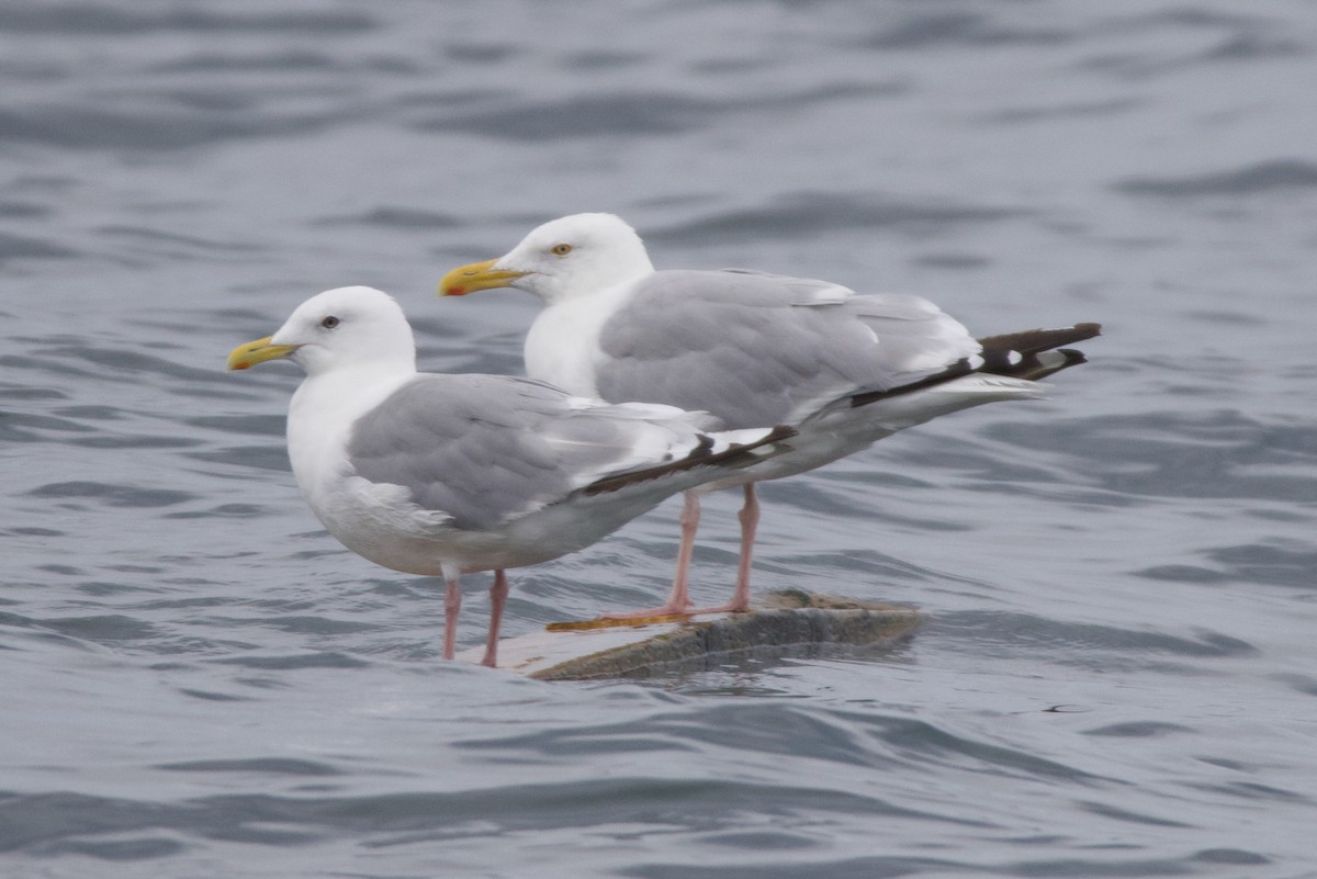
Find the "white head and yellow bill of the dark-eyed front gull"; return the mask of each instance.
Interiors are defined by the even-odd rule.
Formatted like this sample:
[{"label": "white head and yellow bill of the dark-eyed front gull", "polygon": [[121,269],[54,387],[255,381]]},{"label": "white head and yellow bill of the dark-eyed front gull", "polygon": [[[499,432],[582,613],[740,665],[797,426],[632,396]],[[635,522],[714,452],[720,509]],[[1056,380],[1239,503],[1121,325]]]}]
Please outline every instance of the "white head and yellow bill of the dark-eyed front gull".
[{"label": "white head and yellow bill of the dark-eyed front gull", "polygon": [[338,367],[415,371],[416,342],[392,296],[373,287],[338,287],[298,305],[274,336],[233,349],[229,368],[284,358],[307,375]]}]

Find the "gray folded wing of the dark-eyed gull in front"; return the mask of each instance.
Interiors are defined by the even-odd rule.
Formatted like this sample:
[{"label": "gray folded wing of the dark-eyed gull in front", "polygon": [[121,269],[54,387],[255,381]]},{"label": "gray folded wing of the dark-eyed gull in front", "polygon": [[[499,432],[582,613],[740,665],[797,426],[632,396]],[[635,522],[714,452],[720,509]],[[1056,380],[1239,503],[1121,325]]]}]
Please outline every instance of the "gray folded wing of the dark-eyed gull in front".
[{"label": "gray folded wing of the dark-eyed gull in front", "polygon": [[680,417],[637,417],[529,379],[419,375],[353,425],[348,458],[358,476],[479,530],[699,443]]}]

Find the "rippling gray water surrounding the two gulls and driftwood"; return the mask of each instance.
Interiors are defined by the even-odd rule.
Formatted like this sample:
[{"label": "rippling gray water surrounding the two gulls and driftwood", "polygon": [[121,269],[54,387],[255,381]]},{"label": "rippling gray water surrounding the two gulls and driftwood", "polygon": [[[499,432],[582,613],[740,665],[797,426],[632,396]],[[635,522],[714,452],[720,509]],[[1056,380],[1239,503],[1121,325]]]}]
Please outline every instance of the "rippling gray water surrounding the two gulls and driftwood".
[{"label": "rippling gray water surrounding the two gulls and driftwood", "polygon": [[[7,0],[0,83],[4,876],[1317,876],[1312,3]],[[516,372],[535,303],[435,283],[586,209],[1105,324],[764,487],[757,588],[907,643],[527,682],[319,529],[299,376],[228,350],[367,283]],[[677,512],[515,571],[506,634],[658,600]]]}]

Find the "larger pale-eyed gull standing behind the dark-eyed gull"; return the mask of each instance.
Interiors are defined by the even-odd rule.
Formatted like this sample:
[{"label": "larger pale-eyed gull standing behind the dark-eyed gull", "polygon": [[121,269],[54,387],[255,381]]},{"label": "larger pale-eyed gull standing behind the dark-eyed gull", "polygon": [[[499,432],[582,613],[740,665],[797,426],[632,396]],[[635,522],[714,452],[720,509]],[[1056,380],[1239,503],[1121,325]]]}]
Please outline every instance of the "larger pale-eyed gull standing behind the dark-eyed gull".
[{"label": "larger pale-eyed gull standing behind the dark-eyed gull", "polygon": [[[1039,397],[1038,379],[1084,362],[1062,347],[1097,324],[976,339],[917,296],[747,270],[655,271],[636,232],[608,213],[532,230],[506,255],[454,268],[441,296],[512,287],[544,311],[525,371],[573,393],[705,411],[724,428],[788,424],[792,451],[686,492],[677,572],[657,608],[610,615],[744,611],[759,522],[755,483],[813,470],[905,428],[998,400]],[[699,495],[741,486],[736,587],[694,608],[689,567]]]}]

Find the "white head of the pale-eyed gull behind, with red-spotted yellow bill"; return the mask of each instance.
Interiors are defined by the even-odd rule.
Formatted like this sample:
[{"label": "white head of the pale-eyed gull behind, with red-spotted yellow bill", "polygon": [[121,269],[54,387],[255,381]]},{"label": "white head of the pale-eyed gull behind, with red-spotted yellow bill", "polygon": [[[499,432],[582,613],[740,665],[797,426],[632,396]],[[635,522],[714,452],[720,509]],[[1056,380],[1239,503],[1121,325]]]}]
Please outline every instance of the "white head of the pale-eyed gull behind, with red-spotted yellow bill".
[{"label": "white head of the pale-eyed gull behind, with red-spotted yellow bill", "polygon": [[507,254],[454,268],[440,296],[515,287],[545,303],[590,296],[653,271],[636,230],[611,213],[574,213],[532,230]]}]

